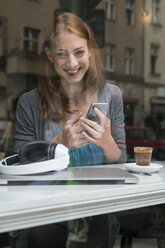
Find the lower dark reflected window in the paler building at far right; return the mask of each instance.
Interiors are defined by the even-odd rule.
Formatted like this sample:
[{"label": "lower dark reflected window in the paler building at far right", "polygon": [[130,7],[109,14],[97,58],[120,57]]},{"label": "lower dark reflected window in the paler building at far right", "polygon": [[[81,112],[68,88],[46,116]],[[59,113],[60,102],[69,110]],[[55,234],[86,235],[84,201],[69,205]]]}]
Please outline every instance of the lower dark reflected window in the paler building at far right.
[{"label": "lower dark reflected window in the paler building at far right", "polygon": [[159,47],[157,45],[151,45],[150,51],[150,70],[151,74],[158,74],[157,73],[157,63],[158,63],[158,51]]}]

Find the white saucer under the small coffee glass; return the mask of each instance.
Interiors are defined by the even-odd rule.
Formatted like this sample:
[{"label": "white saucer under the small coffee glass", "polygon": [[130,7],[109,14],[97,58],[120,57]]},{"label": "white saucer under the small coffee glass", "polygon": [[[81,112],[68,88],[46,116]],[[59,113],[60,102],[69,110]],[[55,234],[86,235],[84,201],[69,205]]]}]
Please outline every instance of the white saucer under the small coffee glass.
[{"label": "white saucer under the small coffee glass", "polygon": [[155,173],[158,172],[163,165],[151,163],[149,166],[136,165],[136,163],[125,164],[125,167],[132,172]]}]

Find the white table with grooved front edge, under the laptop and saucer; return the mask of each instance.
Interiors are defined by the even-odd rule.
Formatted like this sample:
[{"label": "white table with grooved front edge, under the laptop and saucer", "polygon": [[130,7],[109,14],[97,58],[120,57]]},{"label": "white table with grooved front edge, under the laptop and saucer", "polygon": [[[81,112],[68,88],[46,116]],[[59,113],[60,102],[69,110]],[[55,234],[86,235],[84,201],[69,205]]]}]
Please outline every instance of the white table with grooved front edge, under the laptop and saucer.
[{"label": "white table with grooved front edge, under the laptop and saucer", "polygon": [[0,186],[0,232],[165,203],[165,167],[138,177],[125,185]]}]

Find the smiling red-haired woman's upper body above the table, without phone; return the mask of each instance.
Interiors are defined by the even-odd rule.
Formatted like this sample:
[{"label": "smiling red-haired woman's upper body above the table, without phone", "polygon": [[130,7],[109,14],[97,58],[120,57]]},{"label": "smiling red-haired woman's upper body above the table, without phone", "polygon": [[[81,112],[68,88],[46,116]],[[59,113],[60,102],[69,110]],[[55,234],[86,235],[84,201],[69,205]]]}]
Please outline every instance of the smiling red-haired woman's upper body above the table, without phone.
[{"label": "smiling red-haired woman's upper body above the table, without phone", "polygon": [[[90,27],[72,13],[56,16],[43,46],[40,66],[39,89],[24,94],[18,104],[16,150],[21,143],[43,139],[68,147],[70,166],[124,162],[122,95],[117,86],[105,81],[100,52]],[[100,125],[85,118],[93,102],[103,101],[109,104],[109,109],[107,116],[95,109]],[[23,117],[28,102],[35,112],[32,116],[40,121],[32,120],[32,116],[28,120],[27,116]],[[32,122],[40,123],[40,128],[34,128],[34,124],[29,127]],[[22,130],[22,126],[27,128]],[[99,138],[92,138],[97,130],[100,131],[95,137]]]}]

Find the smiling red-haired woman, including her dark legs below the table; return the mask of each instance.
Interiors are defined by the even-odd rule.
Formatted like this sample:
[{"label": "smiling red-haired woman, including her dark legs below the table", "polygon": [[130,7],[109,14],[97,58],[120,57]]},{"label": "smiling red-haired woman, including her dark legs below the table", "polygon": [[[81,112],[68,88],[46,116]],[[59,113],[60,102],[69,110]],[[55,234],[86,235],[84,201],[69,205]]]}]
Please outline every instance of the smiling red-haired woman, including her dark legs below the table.
[{"label": "smiling red-haired woman, including her dark legs below the table", "polygon": [[[55,17],[40,71],[39,88],[18,101],[15,150],[29,141],[44,140],[69,149],[69,167],[125,162],[122,94],[106,83],[93,32],[79,17],[71,13]],[[108,105],[106,114],[94,108],[99,122],[86,118],[94,102]],[[94,247],[110,248],[118,228],[113,214],[33,228],[28,248],[49,246],[49,237],[49,247],[91,247],[96,236]]]}]

